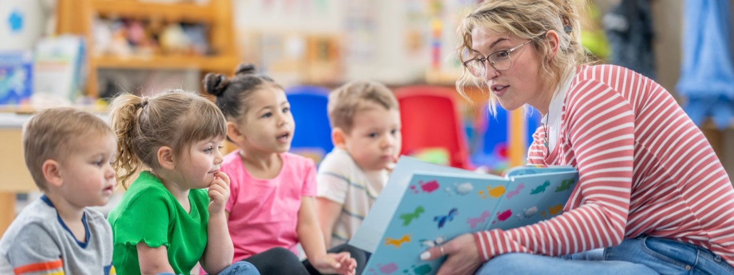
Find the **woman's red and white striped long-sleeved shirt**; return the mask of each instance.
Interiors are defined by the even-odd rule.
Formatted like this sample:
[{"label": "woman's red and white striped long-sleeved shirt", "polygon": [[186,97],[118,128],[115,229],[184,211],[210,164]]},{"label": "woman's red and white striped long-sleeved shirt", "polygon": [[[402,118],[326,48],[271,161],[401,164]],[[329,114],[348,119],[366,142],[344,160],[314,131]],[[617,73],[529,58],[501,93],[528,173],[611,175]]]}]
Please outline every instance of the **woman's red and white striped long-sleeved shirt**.
[{"label": "woman's red and white striped long-sleeved shirt", "polygon": [[557,256],[650,235],[710,249],[734,265],[734,188],[700,129],[655,81],[614,65],[580,66],[566,93],[558,143],[542,127],[528,163],[571,165],[579,182],[564,213],[475,233],[484,260]]}]

